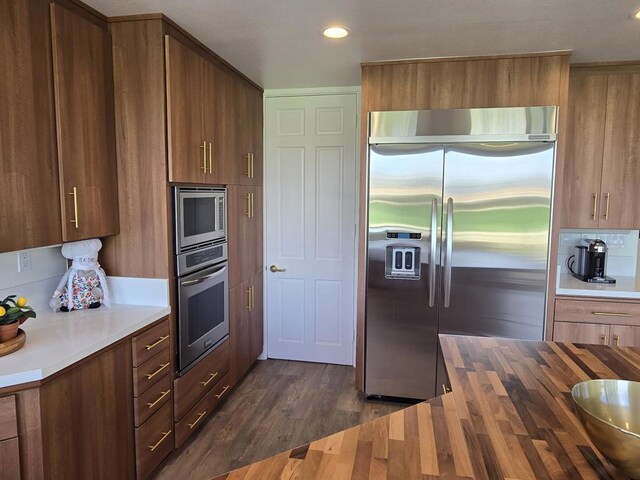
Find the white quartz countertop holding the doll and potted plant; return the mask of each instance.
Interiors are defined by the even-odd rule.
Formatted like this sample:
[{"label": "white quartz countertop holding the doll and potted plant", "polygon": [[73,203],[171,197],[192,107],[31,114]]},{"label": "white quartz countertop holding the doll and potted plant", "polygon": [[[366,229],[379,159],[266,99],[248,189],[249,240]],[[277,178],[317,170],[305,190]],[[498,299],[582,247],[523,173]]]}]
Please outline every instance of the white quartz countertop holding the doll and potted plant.
[{"label": "white quartz countertop holding the doll and potted plant", "polygon": [[42,380],[160,320],[169,307],[113,305],[38,313],[21,325],[22,349],[0,357],[0,388]]}]

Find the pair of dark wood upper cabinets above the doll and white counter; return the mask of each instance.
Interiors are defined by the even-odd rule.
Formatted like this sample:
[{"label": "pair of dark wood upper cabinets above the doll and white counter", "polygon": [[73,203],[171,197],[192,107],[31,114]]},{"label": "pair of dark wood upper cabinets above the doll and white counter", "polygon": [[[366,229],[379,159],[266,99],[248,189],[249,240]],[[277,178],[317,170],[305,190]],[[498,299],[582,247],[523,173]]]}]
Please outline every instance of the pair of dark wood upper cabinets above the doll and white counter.
[{"label": "pair of dark wood upper cabinets above the doll and white counter", "polygon": [[118,232],[111,40],[65,5],[0,0],[0,252]]}]

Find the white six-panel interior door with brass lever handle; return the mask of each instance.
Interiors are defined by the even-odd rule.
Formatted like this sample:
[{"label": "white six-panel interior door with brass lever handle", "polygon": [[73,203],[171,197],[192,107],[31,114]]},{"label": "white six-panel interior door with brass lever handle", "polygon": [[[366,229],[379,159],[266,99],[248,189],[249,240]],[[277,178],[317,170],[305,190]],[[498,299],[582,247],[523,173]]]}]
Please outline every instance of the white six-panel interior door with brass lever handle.
[{"label": "white six-panel interior door with brass lever handle", "polygon": [[357,97],[265,102],[267,355],[351,365]]}]

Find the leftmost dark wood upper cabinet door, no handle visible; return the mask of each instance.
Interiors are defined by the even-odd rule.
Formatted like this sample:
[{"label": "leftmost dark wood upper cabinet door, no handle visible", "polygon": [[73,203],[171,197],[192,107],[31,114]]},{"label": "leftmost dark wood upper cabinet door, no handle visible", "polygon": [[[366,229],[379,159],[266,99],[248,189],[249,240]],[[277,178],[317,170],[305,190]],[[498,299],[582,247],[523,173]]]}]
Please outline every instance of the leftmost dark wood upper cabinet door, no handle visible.
[{"label": "leftmost dark wood upper cabinet door, no handle visible", "polygon": [[0,0],[0,252],[62,241],[50,51],[49,3]]}]

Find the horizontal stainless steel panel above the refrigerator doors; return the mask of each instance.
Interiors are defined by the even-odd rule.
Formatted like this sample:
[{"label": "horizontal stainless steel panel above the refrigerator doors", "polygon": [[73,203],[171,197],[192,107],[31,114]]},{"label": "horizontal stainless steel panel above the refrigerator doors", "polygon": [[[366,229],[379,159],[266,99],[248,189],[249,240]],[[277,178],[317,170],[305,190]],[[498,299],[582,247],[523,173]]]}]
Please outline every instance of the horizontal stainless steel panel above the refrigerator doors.
[{"label": "horizontal stainless steel panel above the refrigerator doors", "polygon": [[369,143],[553,141],[557,107],[372,112]]}]

